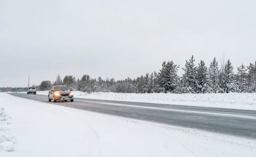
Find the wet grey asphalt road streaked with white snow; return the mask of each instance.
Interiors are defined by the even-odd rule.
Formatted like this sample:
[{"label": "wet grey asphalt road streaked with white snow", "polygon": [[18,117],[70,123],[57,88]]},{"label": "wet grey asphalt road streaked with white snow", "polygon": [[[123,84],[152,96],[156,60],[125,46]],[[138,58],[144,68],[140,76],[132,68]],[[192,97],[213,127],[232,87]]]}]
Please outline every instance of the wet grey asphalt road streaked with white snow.
[{"label": "wet grey asphalt road streaked with white snow", "polygon": [[48,97],[46,95],[28,95],[23,93],[11,93],[11,95],[52,105],[66,106],[102,114],[256,139],[256,111],[252,110],[84,98],[75,98],[74,102],[48,102]]}]

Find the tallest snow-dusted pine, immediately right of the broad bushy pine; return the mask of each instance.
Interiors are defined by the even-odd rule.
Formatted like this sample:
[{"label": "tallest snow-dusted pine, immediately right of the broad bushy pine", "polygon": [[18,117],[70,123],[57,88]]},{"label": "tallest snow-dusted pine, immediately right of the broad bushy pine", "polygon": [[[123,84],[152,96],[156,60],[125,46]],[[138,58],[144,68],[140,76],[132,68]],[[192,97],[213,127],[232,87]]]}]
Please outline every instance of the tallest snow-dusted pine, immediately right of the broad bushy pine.
[{"label": "tallest snow-dusted pine, immediately right of the broad bushy pine", "polygon": [[196,93],[196,65],[194,62],[192,55],[189,61],[186,60],[185,68],[182,68],[185,73],[182,76],[182,90],[180,91],[184,93]]}]

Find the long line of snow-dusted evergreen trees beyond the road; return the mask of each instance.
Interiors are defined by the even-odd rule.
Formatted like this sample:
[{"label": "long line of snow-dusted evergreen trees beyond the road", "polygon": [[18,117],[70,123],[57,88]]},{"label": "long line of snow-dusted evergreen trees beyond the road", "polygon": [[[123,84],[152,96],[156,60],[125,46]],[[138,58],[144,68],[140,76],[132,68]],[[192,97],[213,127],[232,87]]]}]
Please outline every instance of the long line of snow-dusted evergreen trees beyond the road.
[{"label": "long line of snow-dusted evergreen trees beyond the road", "polygon": [[60,75],[52,83],[42,81],[40,90],[49,90],[52,85],[66,85],[82,92],[122,92],[122,93],[229,93],[229,92],[256,92],[256,62],[248,66],[238,67],[234,74],[234,67],[230,60],[221,61],[219,64],[214,57],[209,67],[204,61],[196,65],[194,56],[186,61],[182,68],[184,74],[180,77],[180,69],[173,61],[164,61],[162,69],[154,73],[146,73],[137,78],[115,80],[102,77],[91,78],[84,75],[76,79],[67,75],[62,80]]}]

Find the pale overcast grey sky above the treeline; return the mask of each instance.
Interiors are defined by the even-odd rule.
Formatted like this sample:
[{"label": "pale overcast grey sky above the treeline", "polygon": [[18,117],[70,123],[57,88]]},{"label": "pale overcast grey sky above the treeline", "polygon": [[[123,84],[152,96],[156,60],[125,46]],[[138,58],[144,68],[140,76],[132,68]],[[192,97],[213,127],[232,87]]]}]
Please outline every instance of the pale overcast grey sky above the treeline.
[{"label": "pale overcast grey sky above the treeline", "polygon": [[[138,77],[163,61],[256,60],[253,0],[0,0],[0,86]],[[183,70],[179,70],[182,75]]]}]

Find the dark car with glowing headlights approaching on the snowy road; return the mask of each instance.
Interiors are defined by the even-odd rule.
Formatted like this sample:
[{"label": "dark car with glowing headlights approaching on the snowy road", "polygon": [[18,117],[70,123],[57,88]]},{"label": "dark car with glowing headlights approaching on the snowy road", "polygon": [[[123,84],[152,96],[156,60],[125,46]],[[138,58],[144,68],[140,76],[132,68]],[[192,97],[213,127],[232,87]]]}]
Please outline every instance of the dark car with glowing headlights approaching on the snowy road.
[{"label": "dark car with glowing headlights approaching on the snowy road", "polygon": [[68,86],[52,86],[49,90],[48,101],[74,101],[73,90],[69,89]]}]

